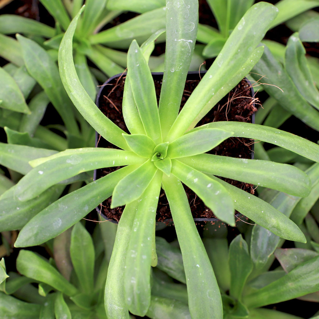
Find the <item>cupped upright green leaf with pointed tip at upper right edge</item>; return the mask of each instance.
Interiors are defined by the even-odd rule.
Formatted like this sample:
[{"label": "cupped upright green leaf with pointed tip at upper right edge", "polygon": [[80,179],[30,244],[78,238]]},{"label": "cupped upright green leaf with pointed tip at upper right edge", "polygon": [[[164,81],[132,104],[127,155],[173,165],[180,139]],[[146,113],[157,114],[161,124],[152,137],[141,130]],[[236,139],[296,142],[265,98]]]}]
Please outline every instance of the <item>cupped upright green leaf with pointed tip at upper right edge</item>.
[{"label": "cupped upright green leaf with pointed tip at upper right edge", "polygon": [[293,33],[286,45],[285,70],[301,95],[319,110],[319,91],[314,85],[305,54],[299,34]]}]

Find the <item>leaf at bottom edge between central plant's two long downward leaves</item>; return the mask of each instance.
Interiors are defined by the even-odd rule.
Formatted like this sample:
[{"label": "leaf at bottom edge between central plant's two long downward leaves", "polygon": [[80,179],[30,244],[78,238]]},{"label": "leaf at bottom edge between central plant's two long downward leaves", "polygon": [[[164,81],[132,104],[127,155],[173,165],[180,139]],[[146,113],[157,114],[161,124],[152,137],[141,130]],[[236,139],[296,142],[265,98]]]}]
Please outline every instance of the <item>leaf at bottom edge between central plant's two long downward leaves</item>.
[{"label": "leaf at bottom edge between central plant's two long downward leaves", "polygon": [[189,309],[183,302],[152,296],[146,315],[152,319],[191,319]]}]

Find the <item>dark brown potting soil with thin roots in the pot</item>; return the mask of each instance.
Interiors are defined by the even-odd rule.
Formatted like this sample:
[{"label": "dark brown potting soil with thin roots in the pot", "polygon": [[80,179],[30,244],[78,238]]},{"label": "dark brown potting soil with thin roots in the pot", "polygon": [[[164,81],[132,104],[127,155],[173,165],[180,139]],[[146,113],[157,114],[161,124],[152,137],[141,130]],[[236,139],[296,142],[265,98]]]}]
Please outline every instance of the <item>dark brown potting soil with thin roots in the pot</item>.
[{"label": "dark brown potting soil with thin roots in the pot", "polygon": [[[158,77],[158,76],[157,76]],[[161,77],[161,76],[160,76]],[[185,84],[184,94],[182,97],[181,108],[187,101],[191,92],[195,89],[200,81],[198,74],[192,75],[194,79],[187,80]],[[104,86],[102,94],[100,95],[99,107],[101,111],[122,130],[129,133],[126,128],[122,116],[122,94],[125,82],[125,75],[121,78],[111,80]],[[159,101],[160,88],[162,84],[161,78],[154,80],[157,99]],[[252,115],[256,111],[251,96],[250,85],[242,80],[236,87],[228,93],[216,106],[198,123],[198,126],[215,121],[240,121],[252,122]],[[98,147],[117,148],[115,145],[109,143],[104,138],[99,137]],[[231,137],[218,145],[209,153],[239,157],[251,158],[252,156],[252,141],[246,138]],[[96,178],[105,176],[120,167],[107,167],[97,170]],[[224,179],[224,178],[223,178]],[[231,179],[224,179],[226,182],[239,187],[251,194],[254,194],[253,185],[234,181]],[[203,201],[197,195],[184,185],[193,218],[215,218],[213,212],[204,205]],[[121,218],[123,207],[110,209],[111,197],[105,200],[99,208],[101,212],[109,219],[118,221]],[[164,221],[171,219],[171,213],[168,206],[168,201],[163,190],[160,192],[159,204],[156,212],[156,220]]]}]

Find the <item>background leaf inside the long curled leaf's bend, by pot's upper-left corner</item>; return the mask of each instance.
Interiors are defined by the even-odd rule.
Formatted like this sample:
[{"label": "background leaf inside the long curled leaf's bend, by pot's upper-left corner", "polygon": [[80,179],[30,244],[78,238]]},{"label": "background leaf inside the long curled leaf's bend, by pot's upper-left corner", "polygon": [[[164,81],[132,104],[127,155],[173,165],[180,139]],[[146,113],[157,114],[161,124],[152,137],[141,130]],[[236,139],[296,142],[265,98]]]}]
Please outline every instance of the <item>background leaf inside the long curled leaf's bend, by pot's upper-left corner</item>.
[{"label": "background leaf inside the long curled leaf's bend, by pot's upper-left corner", "polygon": [[97,86],[94,83],[93,76],[87,65],[86,57],[80,52],[76,52],[74,56],[74,66],[85,91],[90,95],[90,98],[94,102],[97,93]]}]

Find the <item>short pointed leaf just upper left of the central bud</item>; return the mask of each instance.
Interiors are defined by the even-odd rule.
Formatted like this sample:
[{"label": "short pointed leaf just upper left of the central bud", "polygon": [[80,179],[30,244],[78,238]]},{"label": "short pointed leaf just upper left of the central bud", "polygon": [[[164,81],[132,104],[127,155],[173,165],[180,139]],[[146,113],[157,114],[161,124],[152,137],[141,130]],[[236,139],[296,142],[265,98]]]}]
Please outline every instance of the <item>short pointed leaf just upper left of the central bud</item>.
[{"label": "short pointed leaf just upper left of the central bud", "polygon": [[144,134],[123,134],[127,145],[139,156],[150,158],[153,156],[155,143],[152,138]]}]

